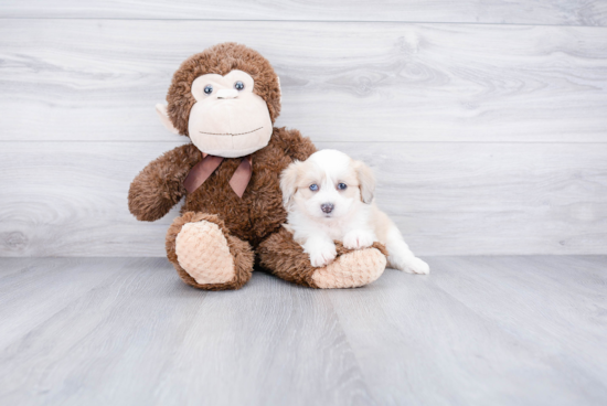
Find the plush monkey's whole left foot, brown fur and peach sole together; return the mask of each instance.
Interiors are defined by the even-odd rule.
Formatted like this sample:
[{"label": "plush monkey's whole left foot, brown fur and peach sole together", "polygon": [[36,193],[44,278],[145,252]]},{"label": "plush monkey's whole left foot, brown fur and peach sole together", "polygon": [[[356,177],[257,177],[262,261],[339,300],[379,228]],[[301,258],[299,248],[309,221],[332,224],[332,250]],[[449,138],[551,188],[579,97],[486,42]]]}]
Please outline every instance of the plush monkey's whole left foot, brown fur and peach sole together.
[{"label": "plush monkey's whole left foot, brown fur and peach sole together", "polygon": [[167,253],[181,278],[201,289],[238,289],[253,271],[248,243],[230,235],[214,215],[190,212],[175,218]]}]

